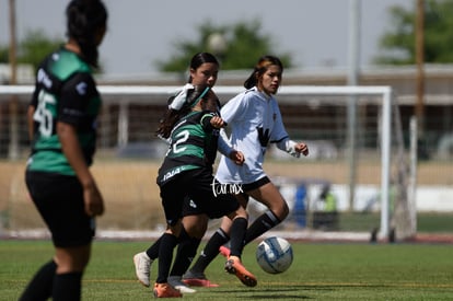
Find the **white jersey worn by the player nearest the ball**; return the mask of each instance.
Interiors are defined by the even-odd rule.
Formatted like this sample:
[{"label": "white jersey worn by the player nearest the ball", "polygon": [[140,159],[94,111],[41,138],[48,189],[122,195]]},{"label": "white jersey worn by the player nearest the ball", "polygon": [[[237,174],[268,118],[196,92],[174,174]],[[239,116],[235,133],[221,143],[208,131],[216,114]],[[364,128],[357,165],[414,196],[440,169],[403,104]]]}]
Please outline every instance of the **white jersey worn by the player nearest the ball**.
[{"label": "white jersey worn by the player nearest the ball", "polygon": [[256,88],[231,99],[221,108],[221,116],[231,130],[229,144],[245,157],[239,166],[222,155],[216,175],[221,183],[249,184],[266,176],[263,163],[269,142],[293,151],[294,142],[289,140],[277,101]]}]

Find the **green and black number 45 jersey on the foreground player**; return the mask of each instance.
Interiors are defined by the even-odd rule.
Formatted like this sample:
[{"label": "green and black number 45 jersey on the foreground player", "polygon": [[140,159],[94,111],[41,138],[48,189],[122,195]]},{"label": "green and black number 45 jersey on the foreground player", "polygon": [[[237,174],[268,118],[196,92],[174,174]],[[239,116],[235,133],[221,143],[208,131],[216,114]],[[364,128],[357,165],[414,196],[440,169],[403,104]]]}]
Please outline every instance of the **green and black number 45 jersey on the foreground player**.
[{"label": "green and black number 45 jersey on the foreground player", "polygon": [[74,175],[61,150],[57,121],[77,128],[86,163],[91,165],[96,146],[96,117],[102,102],[91,67],[65,48],[40,63],[31,106],[35,108],[30,171]]}]

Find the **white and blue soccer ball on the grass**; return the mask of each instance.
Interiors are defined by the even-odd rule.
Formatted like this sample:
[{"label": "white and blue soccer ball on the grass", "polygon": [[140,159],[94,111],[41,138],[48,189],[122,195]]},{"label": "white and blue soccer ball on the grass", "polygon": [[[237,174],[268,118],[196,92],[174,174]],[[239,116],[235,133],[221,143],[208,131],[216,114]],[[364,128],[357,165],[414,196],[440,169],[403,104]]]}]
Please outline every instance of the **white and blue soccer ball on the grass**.
[{"label": "white and blue soccer ball on the grass", "polygon": [[292,258],[292,246],[282,238],[268,238],[256,248],[256,262],[269,274],[283,273],[291,266]]}]

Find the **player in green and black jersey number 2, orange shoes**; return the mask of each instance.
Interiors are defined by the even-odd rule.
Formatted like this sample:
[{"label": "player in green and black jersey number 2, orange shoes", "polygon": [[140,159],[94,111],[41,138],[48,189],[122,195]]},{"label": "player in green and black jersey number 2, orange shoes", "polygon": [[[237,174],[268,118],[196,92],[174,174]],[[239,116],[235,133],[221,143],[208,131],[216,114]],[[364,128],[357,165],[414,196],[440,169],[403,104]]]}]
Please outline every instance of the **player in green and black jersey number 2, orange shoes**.
[{"label": "player in green and black jersey number 2, orange shoes", "polygon": [[173,100],[161,121],[158,134],[170,139],[169,151],[159,169],[158,185],[167,230],[161,236],[159,247],[159,275],[154,296],[181,297],[181,292],[167,283],[173,248],[186,240],[182,225],[185,198],[196,200],[198,210],[209,218],[228,216],[232,220],[232,253],[225,269],[235,274],[247,286],[256,286],[256,278],[241,263],[243,240],[247,228],[247,213],[231,194],[214,195],[212,164],[216,159],[219,129],[224,126],[217,116],[218,99],[208,85],[187,84]]}]

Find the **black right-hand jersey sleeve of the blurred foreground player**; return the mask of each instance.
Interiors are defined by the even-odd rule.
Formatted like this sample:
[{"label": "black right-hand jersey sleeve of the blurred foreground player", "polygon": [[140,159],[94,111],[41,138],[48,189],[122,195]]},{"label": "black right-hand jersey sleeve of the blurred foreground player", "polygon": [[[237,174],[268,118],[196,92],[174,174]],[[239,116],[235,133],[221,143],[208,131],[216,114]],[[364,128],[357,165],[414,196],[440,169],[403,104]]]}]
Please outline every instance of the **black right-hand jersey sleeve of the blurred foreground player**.
[{"label": "black right-hand jersey sleeve of the blurred foreground player", "polygon": [[98,96],[93,77],[90,73],[76,73],[61,88],[58,121],[80,126],[86,119],[90,102]]}]

